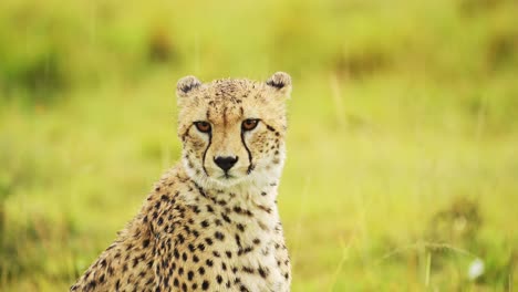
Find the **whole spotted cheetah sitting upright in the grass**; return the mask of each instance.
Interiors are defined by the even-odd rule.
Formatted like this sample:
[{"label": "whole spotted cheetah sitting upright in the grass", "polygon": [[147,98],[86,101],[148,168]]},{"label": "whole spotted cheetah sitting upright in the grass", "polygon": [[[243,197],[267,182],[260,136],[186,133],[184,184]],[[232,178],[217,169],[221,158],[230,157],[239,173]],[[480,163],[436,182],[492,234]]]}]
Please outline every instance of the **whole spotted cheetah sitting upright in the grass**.
[{"label": "whole spotted cheetah sitting upright in the grass", "polygon": [[291,77],[177,83],[180,161],[70,291],[290,291],[277,208]]}]

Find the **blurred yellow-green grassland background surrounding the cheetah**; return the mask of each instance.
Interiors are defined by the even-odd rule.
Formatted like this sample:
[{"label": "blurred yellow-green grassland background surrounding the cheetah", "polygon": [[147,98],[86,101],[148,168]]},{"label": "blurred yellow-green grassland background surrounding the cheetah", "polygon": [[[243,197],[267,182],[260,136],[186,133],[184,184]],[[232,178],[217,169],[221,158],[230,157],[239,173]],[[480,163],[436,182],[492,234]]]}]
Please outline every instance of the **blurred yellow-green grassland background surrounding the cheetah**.
[{"label": "blurred yellow-green grassland background surrounding the cheetah", "polygon": [[66,290],[138,210],[179,158],[177,79],[282,70],[293,291],[512,291],[517,15],[514,0],[0,1],[0,290]]}]

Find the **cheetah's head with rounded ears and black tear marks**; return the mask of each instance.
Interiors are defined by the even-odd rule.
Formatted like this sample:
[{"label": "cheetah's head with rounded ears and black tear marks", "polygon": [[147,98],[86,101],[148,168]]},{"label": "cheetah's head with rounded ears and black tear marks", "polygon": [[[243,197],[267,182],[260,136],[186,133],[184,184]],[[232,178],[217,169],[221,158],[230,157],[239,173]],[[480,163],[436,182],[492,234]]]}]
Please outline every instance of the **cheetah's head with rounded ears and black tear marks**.
[{"label": "cheetah's head with rounded ears and black tear marks", "polygon": [[189,176],[200,185],[218,187],[278,177],[290,92],[291,79],[282,72],[267,82],[179,80],[178,136]]}]

